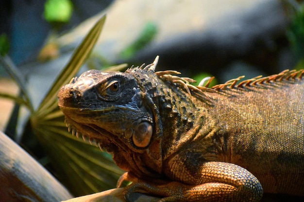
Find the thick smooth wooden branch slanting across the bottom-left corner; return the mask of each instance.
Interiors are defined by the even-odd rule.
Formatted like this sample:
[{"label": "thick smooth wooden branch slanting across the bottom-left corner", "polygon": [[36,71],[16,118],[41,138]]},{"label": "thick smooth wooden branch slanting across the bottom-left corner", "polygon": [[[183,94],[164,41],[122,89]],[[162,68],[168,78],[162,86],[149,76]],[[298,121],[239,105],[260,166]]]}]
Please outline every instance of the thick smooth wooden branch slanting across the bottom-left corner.
[{"label": "thick smooth wooden branch slanting across the bottom-left corner", "polygon": [[70,198],[64,186],[0,131],[1,202],[59,202]]}]

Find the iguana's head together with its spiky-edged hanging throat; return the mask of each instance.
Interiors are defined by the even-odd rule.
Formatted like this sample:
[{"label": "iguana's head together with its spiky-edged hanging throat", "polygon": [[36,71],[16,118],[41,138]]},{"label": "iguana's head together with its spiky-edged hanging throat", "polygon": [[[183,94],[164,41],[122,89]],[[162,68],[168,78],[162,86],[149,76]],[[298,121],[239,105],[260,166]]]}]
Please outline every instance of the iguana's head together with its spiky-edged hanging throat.
[{"label": "iguana's head together with its spiky-edged hanging throat", "polygon": [[[133,164],[141,164],[139,159],[130,159],[137,154],[137,157],[153,155],[153,164],[159,166],[156,170],[161,170],[161,148],[157,140],[160,130],[155,129],[154,106],[147,101],[149,87],[144,86],[147,83],[140,84],[130,71],[149,72],[147,68],[131,68],[128,73],[89,70],[73,78],[58,93],[59,107],[73,134],[81,133],[98,142],[102,149],[114,155],[122,169],[132,170]],[[121,165],[125,161],[131,166]]]}]

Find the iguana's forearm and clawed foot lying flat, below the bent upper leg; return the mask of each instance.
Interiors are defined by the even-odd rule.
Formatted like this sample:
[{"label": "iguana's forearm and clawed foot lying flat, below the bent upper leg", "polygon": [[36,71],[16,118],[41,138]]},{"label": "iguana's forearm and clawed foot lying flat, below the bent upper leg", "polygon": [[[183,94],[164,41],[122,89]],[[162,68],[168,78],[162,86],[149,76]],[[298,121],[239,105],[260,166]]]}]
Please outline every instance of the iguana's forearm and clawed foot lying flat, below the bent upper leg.
[{"label": "iguana's forearm and clawed foot lying flat, below the bent upper leg", "polygon": [[131,202],[133,192],[147,192],[162,196],[158,202],[258,202],[263,192],[240,191],[237,187],[223,183],[205,183],[202,185],[185,185],[170,182],[163,185],[133,183],[125,187],[123,194],[127,202]]}]

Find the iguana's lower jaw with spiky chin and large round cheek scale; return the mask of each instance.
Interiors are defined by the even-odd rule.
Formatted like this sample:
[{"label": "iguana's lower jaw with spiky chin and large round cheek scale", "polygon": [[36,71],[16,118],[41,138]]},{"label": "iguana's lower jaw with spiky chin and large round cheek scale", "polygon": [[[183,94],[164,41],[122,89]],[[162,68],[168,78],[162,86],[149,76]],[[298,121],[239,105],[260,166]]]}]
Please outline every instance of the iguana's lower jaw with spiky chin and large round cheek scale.
[{"label": "iguana's lower jaw with spiky chin and large round cheek scale", "polygon": [[[89,140],[100,142],[101,146],[102,141],[115,142],[121,147],[124,147],[123,145],[130,147],[134,144],[139,149],[146,148],[150,144],[153,121],[148,115],[142,114],[134,119],[131,114],[136,112],[127,110],[123,106],[99,110],[81,110],[63,106],[60,108],[66,115],[67,126],[73,134],[82,133],[84,137],[88,136]],[[118,116],[117,110],[124,110],[126,114],[120,112]]]}]

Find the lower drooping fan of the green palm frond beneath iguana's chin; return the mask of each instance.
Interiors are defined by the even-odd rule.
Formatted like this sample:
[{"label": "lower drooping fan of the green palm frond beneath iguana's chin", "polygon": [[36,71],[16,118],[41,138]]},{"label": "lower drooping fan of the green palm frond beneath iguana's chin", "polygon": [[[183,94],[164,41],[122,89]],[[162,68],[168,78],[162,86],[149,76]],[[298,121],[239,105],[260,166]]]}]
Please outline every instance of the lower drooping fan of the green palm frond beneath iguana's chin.
[{"label": "lower drooping fan of the green palm frond beneath iguana's chin", "polygon": [[63,116],[54,117],[36,123],[35,133],[60,181],[77,196],[115,187],[123,171],[112,158],[68,133]]}]

